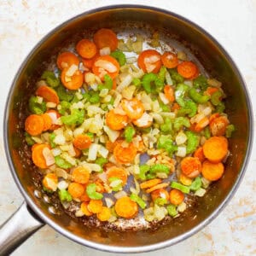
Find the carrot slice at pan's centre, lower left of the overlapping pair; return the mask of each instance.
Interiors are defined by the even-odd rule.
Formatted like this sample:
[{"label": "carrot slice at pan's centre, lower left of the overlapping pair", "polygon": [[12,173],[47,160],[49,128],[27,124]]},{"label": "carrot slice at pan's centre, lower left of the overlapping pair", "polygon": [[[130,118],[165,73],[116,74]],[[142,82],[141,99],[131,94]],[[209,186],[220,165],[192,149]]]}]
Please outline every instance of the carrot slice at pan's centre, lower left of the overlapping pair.
[{"label": "carrot slice at pan's centre, lower left of the overlapping pair", "polygon": [[106,124],[112,130],[122,130],[128,123],[127,115],[114,113],[114,110],[110,110],[106,115]]}]

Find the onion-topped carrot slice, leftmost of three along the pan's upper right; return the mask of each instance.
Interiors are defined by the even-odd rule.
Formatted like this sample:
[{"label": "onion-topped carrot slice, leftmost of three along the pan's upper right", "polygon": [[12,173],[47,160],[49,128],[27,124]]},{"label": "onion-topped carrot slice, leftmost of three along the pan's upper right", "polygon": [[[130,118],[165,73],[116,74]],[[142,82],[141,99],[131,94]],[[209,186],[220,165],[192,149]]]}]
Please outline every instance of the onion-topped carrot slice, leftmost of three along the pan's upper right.
[{"label": "onion-topped carrot slice, leftmost of three along the pan's upper right", "polygon": [[137,58],[137,65],[145,73],[158,73],[162,66],[161,55],[155,49],[143,50]]}]

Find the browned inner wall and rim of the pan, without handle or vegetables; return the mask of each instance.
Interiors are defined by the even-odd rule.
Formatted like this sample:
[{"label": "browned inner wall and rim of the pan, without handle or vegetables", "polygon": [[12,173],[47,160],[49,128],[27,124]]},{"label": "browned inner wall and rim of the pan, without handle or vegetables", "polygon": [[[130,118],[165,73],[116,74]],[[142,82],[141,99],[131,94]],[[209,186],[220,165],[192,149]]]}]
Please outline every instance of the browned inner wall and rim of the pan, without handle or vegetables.
[{"label": "browned inner wall and rim of the pan, without handle or vegetables", "polygon": [[[101,27],[112,28],[115,32],[141,32],[149,36],[157,31],[166,44],[177,44],[188,51],[195,61],[201,63],[206,73],[223,83],[227,94],[226,113],[229,114],[230,122],[236,126],[236,131],[230,139],[230,157],[226,162],[224,177],[212,183],[207,195],[194,201],[193,207],[189,207],[179,218],[149,230],[137,230],[134,227],[119,232],[84,226],[70,218],[67,213],[61,212],[61,207],[58,207],[60,214],[51,213],[49,207],[53,202],[47,203],[44,196],[38,199],[34,194],[34,190],[39,186],[39,174],[29,160],[29,150],[23,137],[28,98],[36,89],[36,81],[42,72],[49,67],[52,56],[56,56],[71,42],[77,42],[79,38],[90,35]],[[202,227],[210,216],[212,218],[240,179],[251,139],[251,113],[248,104],[245,85],[233,62],[223,49],[197,26],[157,9],[100,9],[80,15],[56,28],[38,44],[20,67],[9,95],[5,124],[5,137],[8,142],[6,149],[16,183],[29,205],[62,234],[91,247],[98,247],[97,243],[106,245],[107,247],[98,247],[103,250],[118,251],[113,247],[143,247],[164,241],[167,241],[166,245],[170,245],[190,236],[193,233],[191,230]],[[141,249],[137,248],[137,251],[139,250]]]}]

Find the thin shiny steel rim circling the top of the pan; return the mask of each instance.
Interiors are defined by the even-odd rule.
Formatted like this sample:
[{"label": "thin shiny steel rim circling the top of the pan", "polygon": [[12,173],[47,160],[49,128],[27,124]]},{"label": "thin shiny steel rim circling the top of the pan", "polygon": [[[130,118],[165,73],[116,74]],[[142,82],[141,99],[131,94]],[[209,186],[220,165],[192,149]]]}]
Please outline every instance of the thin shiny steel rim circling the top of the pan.
[{"label": "thin shiny steel rim circling the top of the pan", "polygon": [[[201,33],[205,34],[207,36],[207,38],[209,38],[212,41],[212,43],[215,44],[218,47],[218,49],[220,49],[222,54],[227,58],[230,65],[235,70],[237,78],[241,82],[242,89],[243,89],[245,97],[247,99],[248,121],[249,121],[249,129],[250,129],[249,136],[248,136],[248,142],[247,142],[247,154],[245,155],[245,159],[242,163],[241,172],[239,173],[239,175],[236,179],[236,183],[234,183],[232,189],[230,190],[230,193],[224,198],[224,201],[212,212],[211,215],[209,215],[204,221],[202,221],[200,224],[195,226],[193,229],[187,231],[186,233],[183,233],[182,235],[179,235],[179,236],[176,236],[172,239],[169,239],[167,241],[161,241],[161,242],[154,243],[154,244],[148,245],[148,246],[139,246],[139,247],[108,246],[108,245],[104,245],[104,244],[101,244],[101,243],[96,243],[96,242],[93,242],[93,241],[85,240],[84,238],[81,238],[79,236],[75,236],[75,235],[73,235],[72,232],[61,228],[61,226],[59,226],[58,224],[55,224],[55,222],[52,221],[50,218],[48,218],[44,214],[44,212],[32,201],[32,198],[26,193],[26,190],[21,185],[19,177],[17,176],[17,173],[15,172],[15,166],[13,165],[13,162],[12,162],[11,156],[10,156],[10,152],[9,152],[9,138],[8,138],[8,119],[9,119],[9,108],[10,108],[9,99],[10,99],[10,97],[12,96],[12,94],[14,92],[15,84],[16,84],[18,78],[20,77],[20,73],[22,72],[23,68],[26,66],[26,62],[31,58],[31,56],[34,54],[36,49],[38,49],[39,46],[44,44],[44,42],[47,41],[48,38],[50,38],[55,32],[61,30],[61,28],[65,27],[65,26],[67,26],[73,20],[78,20],[79,18],[83,17],[84,15],[90,15],[90,14],[93,14],[93,13],[96,13],[96,12],[101,12],[101,11],[105,11],[105,10],[109,10],[109,9],[142,9],[142,10],[146,9],[146,10],[153,10],[153,11],[163,13],[163,14],[166,14],[166,15],[171,15],[171,16],[177,18],[178,20],[182,20],[184,22],[189,23],[191,26],[194,26],[195,29],[197,29]],[[195,24],[194,21],[191,21],[187,18],[184,18],[182,15],[177,15],[177,14],[173,13],[172,11],[169,11],[169,10],[166,10],[166,9],[159,9],[159,8],[156,8],[156,7],[153,7],[153,6],[141,5],[141,4],[114,4],[114,5],[102,6],[100,8],[96,8],[96,9],[90,9],[88,11],[85,11],[82,14],[76,15],[73,18],[70,18],[70,19],[64,21],[63,23],[61,23],[61,25],[56,26],[54,29],[52,29],[50,32],[48,32],[38,42],[38,44],[36,44],[32,48],[30,53],[26,56],[26,59],[21,63],[20,68],[18,69],[18,71],[15,75],[15,79],[13,79],[11,87],[9,88],[9,94],[8,94],[7,102],[5,104],[4,117],[3,117],[3,139],[4,139],[5,154],[6,154],[6,158],[8,160],[9,168],[11,170],[12,176],[15,179],[15,183],[16,183],[17,187],[20,189],[20,193],[25,198],[25,201],[28,204],[28,206],[32,208],[32,211],[35,212],[38,215],[39,218],[44,220],[44,222],[46,224],[49,224],[50,227],[52,227],[57,232],[61,233],[61,235],[66,236],[67,238],[69,238],[73,241],[76,241],[79,244],[87,246],[87,247],[91,247],[91,248],[95,248],[95,249],[99,249],[101,251],[106,251],[106,252],[111,252],[111,253],[143,253],[143,252],[154,251],[154,250],[164,248],[164,247],[170,247],[170,246],[176,244],[179,241],[183,241],[183,240],[189,238],[189,236],[194,235],[198,231],[202,230],[205,226],[207,226],[207,224],[210,224],[214,218],[217,218],[218,214],[224,209],[224,207],[226,207],[228,202],[231,200],[232,196],[235,195],[236,190],[238,189],[239,184],[241,183],[242,177],[244,177],[244,173],[245,173],[246,168],[247,168],[248,160],[249,160],[250,155],[251,155],[251,151],[252,151],[251,149],[252,149],[252,146],[253,146],[253,108],[252,108],[252,103],[250,101],[250,97],[249,97],[249,94],[248,94],[248,91],[247,91],[246,83],[245,83],[244,79],[242,78],[241,73],[238,70],[238,67],[236,67],[236,63],[232,60],[232,58],[228,54],[227,50],[224,49],[224,47],[221,46],[218,43],[218,41],[215,38],[213,38],[212,35],[210,35],[201,26]]]}]

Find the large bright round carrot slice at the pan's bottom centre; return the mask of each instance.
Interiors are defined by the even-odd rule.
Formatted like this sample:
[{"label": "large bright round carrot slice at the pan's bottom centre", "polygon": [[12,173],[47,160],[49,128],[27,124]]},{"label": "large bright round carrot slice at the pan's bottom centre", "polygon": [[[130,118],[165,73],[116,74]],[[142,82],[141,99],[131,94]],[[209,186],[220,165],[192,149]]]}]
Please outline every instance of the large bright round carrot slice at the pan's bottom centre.
[{"label": "large bright round carrot slice at the pan's bottom centre", "polygon": [[128,196],[119,198],[115,203],[114,209],[117,215],[122,218],[134,218],[138,212],[137,203]]}]

